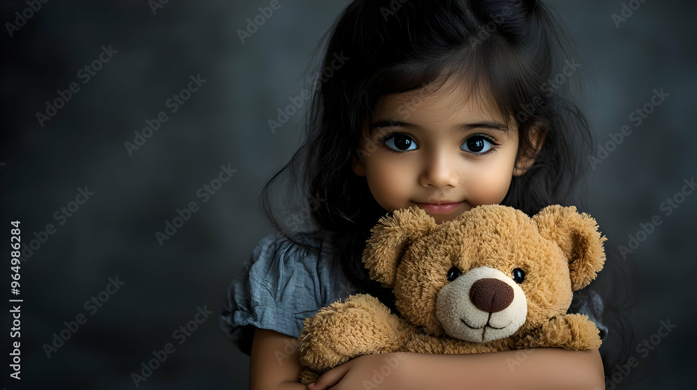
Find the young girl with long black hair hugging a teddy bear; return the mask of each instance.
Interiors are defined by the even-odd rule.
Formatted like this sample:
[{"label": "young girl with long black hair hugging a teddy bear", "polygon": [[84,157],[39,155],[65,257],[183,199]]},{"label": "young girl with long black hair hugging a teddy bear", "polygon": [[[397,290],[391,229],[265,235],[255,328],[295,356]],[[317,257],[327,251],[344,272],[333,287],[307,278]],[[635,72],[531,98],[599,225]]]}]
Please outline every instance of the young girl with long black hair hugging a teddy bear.
[{"label": "young girl with long black hair hugging a teddy bear", "polygon": [[[388,212],[418,205],[441,223],[484,204],[529,215],[579,205],[574,185],[592,143],[569,97],[585,68],[568,45],[539,1],[348,5],[314,82],[307,139],[263,189],[279,233],[256,246],[222,310],[227,336],[251,354],[251,389],[306,388],[296,339],[322,306],[368,292],[397,312],[361,263],[370,228]],[[305,207],[281,226],[269,194],[293,169]],[[314,229],[300,232],[298,221]],[[602,304],[586,289],[572,309],[604,337]],[[604,388],[597,350],[387,355],[351,359],[310,388]],[[388,361],[399,364],[376,375]]]}]

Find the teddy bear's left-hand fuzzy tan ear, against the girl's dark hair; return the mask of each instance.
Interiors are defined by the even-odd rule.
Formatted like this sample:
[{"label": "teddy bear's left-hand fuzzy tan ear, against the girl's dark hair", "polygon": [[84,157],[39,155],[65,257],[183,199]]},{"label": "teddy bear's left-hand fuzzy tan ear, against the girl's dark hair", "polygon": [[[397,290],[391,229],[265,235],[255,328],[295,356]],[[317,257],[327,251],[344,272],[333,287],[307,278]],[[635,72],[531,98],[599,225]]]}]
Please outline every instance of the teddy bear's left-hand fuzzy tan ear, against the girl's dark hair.
[{"label": "teddy bear's left-hand fuzzy tan ear, against the girl's dark hair", "polygon": [[362,260],[370,279],[380,282],[385,288],[395,286],[397,266],[407,247],[437,226],[434,217],[417,206],[397,209],[392,217],[381,217],[370,230],[370,238],[363,250]]}]

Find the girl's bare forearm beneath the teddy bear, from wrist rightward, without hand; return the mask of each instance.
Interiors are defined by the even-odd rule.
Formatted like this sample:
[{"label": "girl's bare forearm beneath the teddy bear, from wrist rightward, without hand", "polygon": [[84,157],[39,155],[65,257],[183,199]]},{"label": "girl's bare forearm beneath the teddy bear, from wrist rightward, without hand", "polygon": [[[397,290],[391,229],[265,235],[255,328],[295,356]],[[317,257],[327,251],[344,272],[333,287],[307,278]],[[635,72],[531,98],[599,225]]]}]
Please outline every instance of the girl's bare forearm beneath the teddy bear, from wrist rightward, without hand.
[{"label": "girl's bare forearm beneath the teddy bear, from wrist rightward, without hand", "polygon": [[598,350],[410,354],[408,359],[406,372],[415,389],[605,389]]}]

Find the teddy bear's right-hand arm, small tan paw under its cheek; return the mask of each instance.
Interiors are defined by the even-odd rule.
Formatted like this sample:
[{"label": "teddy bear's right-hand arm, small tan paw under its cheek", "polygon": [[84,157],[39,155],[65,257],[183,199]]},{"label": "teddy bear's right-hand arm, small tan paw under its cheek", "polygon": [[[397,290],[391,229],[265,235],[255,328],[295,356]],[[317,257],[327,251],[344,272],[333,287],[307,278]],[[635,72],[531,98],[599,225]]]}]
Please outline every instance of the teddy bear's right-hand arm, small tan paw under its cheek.
[{"label": "teddy bear's right-hand arm, small tan paw under its cheek", "polygon": [[564,348],[595,350],[600,348],[598,328],[588,315],[567,314],[554,317],[521,338],[516,348]]}]

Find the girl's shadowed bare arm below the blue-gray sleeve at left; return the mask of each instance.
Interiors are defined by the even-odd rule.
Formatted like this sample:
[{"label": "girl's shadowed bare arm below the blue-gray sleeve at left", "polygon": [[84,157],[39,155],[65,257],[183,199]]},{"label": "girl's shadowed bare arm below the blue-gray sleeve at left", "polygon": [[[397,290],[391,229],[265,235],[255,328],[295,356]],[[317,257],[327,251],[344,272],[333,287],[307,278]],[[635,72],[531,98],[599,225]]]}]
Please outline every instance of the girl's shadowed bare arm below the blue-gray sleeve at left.
[{"label": "girl's shadowed bare arm below the blue-gray sleeve at left", "polygon": [[[307,390],[298,380],[300,354],[296,339],[268,329],[254,330],[250,358],[250,390]],[[293,350],[292,354],[287,354]]]}]

